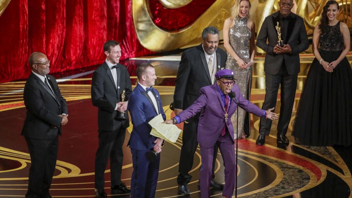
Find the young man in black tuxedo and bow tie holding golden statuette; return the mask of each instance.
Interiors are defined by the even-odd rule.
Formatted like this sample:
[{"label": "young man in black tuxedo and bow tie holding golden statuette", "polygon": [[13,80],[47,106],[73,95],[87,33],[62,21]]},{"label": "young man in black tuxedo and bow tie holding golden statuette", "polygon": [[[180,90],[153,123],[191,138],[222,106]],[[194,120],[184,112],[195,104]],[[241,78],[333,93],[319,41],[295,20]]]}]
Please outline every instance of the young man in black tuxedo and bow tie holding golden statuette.
[{"label": "young man in black tuxedo and bow tie holding golden statuette", "polygon": [[[117,118],[118,111],[126,111],[132,92],[130,75],[126,66],[119,64],[120,43],[107,41],[103,46],[106,60],[93,73],[92,103],[98,107],[99,148],[95,155],[95,195],[106,198],[104,172],[110,158],[111,189],[114,193],[131,193],[121,182],[123,152],[127,120]],[[125,101],[121,93],[125,90]]]}]

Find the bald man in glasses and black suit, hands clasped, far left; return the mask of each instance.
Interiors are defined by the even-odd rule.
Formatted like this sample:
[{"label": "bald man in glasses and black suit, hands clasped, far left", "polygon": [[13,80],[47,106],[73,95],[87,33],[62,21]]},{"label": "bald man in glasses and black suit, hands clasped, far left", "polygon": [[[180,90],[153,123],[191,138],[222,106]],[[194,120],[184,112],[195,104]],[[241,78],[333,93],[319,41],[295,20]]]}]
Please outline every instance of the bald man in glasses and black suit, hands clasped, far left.
[{"label": "bald man in glasses and black suit, hands clasped, far left", "polygon": [[27,198],[50,198],[49,188],[54,175],[58,135],[68,122],[66,100],[62,97],[50,72],[45,54],[34,52],[29,57],[31,74],[23,92],[27,109],[21,135],[26,139],[31,156]]}]

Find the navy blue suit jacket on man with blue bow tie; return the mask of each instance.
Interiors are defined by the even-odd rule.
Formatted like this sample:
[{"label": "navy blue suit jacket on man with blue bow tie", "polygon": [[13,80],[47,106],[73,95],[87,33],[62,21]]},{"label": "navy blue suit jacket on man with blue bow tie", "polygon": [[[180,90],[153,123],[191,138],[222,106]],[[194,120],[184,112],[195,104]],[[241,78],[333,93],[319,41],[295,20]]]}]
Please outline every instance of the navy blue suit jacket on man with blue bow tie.
[{"label": "navy blue suit jacket on man with blue bow tie", "polygon": [[131,149],[151,150],[157,137],[150,135],[152,127],[148,122],[160,113],[163,119],[166,119],[159,92],[153,88],[152,93],[158,103],[158,112],[147,92],[139,84],[128,99],[127,109],[131,114],[133,129],[127,146]]}]

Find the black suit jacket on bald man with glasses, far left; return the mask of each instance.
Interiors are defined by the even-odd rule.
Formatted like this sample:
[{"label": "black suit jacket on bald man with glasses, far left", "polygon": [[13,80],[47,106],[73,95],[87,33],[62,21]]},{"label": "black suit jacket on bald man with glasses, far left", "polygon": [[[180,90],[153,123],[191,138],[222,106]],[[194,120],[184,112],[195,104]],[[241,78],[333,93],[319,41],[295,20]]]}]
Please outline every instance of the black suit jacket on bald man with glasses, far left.
[{"label": "black suit jacket on bald man with glasses, far left", "polygon": [[[27,109],[21,135],[39,140],[52,140],[61,134],[62,118],[58,115],[68,114],[66,100],[62,97],[57,82],[51,75],[46,75],[55,97],[38,76],[31,72],[23,91],[23,100]],[[51,126],[56,126],[53,129]]]}]

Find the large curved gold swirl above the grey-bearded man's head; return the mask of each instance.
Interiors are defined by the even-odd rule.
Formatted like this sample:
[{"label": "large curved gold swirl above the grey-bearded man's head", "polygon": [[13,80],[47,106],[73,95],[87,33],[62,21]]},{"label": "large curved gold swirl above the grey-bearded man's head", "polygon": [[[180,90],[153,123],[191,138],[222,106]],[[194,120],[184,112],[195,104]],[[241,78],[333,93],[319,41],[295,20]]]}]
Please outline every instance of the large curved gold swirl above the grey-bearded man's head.
[{"label": "large curved gold swirl above the grey-bearded man's head", "polygon": [[[143,47],[152,51],[174,50],[198,38],[205,27],[215,26],[219,14],[223,13],[220,11],[222,9],[229,10],[233,4],[234,0],[217,0],[192,25],[171,32],[162,30],[153,23],[149,15],[147,0],[132,0],[134,28]],[[220,22],[218,28],[221,30],[224,21]],[[197,42],[200,43],[201,40],[199,39]]]}]

